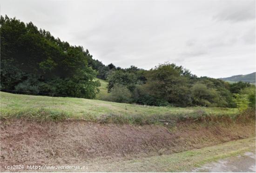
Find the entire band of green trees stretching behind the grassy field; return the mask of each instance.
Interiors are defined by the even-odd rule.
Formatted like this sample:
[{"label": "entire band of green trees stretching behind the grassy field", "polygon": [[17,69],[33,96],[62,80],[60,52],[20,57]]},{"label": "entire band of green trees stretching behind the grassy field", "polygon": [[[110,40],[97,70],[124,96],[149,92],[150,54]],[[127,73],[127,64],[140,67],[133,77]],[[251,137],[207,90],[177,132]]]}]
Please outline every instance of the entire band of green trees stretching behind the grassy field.
[{"label": "entire band of green trees stretching behind the grassy field", "polygon": [[53,93],[94,99],[108,81],[102,100],[150,106],[255,106],[255,86],[197,77],[164,63],[150,70],[105,66],[87,49],[55,39],[32,22],[0,17],[1,90]]}]

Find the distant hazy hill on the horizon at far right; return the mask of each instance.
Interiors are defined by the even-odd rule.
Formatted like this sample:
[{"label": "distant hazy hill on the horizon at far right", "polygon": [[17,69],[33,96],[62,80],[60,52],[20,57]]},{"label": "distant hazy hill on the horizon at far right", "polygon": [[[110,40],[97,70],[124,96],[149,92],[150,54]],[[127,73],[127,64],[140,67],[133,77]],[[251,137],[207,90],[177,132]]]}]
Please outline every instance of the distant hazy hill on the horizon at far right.
[{"label": "distant hazy hill on the horizon at far right", "polygon": [[243,81],[243,82],[249,82],[249,83],[255,84],[255,76],[256,76],[256,72],[250,73],[250,74],[245,74],[245,75],[240,74],[240,75],[231,76],[228,78],[219,78],[219,79],[230,82],[230,83]]}]

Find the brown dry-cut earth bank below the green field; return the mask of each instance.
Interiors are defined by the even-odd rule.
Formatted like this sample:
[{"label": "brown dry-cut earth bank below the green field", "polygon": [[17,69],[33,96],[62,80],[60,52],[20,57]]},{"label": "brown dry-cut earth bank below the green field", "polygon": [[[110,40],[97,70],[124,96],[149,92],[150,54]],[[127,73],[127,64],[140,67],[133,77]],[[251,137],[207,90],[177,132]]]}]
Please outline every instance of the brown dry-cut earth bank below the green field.
[{"label": "brown dry-cut earth bank below the green field", "polygon": [[225,126],[179,123],[170,129],[71,120],[1,120],[0,128],[1,168],[7,164],[72,164],[99,156],[176,153],[255,135],[255,121]]}]

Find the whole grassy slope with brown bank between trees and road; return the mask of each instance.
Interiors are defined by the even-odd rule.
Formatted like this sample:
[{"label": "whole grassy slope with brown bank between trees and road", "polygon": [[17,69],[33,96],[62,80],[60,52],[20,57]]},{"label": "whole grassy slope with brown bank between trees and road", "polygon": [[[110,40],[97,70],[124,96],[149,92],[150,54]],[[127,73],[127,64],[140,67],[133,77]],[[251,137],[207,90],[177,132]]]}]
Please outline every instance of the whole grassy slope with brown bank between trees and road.
[{"label": "whole grassy slope with brown bank between trees and road", "polygon": [[[158,171],[186,171],[251,151],[255,146],[255,112],[241,114],[237,109],[217,107],[140,106],[4,92],[0,92],[0,99],[2,170],[5,165],[23,163],[83,165],[90,172],[148,170],[137,164],[157,164],[152,169]],[[162,124],[159,120],[167,121]],[[246,138],[250,140],[240,142]],[[233,140],[240,141],[223,145]],[[171,161],[174,158],[179,160],[178,167]],[[188,163],[188,158],[193,161]],[[122,163],[131,164],[132,170],[119,166]],[[101,169],[103,165],[108,167]],[[27,172],[27,168],[23,171]]]}]

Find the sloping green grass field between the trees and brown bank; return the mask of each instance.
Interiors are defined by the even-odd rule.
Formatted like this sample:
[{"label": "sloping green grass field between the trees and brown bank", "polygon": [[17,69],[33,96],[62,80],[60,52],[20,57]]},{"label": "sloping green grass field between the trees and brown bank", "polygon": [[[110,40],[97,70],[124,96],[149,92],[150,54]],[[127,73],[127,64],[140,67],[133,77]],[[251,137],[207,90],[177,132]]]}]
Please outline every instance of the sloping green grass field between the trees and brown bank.
[{"label": "sloping green grass field between the trees and brown bank", "polygon": [[[198,119],[205,116],[239,114],[238,109],[217,107],[158,107],[102,100],[48,97],[0,92],[1,119],[27,118],[62,120],[67,118],[103,123],[152,124],[159,119]],[[58,117],[60,116],[60,117]],[[29,118],[32,117],[32,118]],[[47,117],[47,118],[43,118]]]}]

